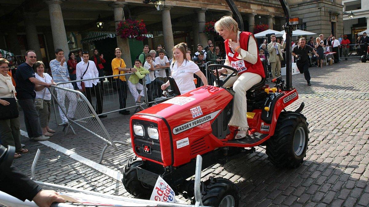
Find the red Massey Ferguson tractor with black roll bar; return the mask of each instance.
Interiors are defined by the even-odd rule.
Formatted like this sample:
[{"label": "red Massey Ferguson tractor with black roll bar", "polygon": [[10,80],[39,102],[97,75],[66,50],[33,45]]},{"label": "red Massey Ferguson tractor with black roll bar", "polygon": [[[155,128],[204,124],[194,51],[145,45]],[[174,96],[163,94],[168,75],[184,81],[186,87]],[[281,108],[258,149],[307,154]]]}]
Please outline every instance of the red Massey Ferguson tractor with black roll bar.
[{"label": "red Massey Ferguson tractor with black roll bar", "polygon": [[[232,0],[227,3],[243,31],[237,7]],[[233,72],[224,80],[217,75],[216,86],[204,85],[185,94],[180,94],[175,81],[169,78],[175,97],[142,110],[130,119],[132,148],[137,158],[128,160],[122,179],[130,194],[149,199],[161,176],[176,194],[193,200],[194,180],[189,178],[195,173],[196,155],[203,157],[202,168],[205,169],[245,157],[255,151],[255,146],[263,146],[275,166],[300,166],[309,140],[308,123],[301,114],[304,103],[294,111],[285,108],[299,98],[292,87],[291,35],[292,28],[301,24],[301,19],[290,18],[286,0],[280,3],[286,16],[286,81],[279,77],[272,80],[273,85],[268,85],[263,78],[246,92],[251,138],[235,140],[237,131],[228,126],[235,92],[223,85],[237,75],[237,70],[209,65],[208,70],[224,67]],[[266,73],[266,62],[262,61]],[[239,199],[239,188],[230,180],[210,178],[201,182],[204,206],[238,206]]]}]

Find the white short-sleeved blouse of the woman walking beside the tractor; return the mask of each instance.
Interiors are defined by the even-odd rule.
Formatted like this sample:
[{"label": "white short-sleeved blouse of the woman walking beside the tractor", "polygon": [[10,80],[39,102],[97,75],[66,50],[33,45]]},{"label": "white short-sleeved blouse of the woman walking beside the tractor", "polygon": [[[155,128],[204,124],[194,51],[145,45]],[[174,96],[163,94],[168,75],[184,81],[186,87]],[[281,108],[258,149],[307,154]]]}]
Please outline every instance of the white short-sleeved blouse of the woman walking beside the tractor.
[{"label": "white short-sleeved blouse of the woman walking beside the tractor", "polygon": [[172,77],[176,81],[181,94],[187,93],[196,88],[193,82],[193,74],[200,71],[196,63],[184,60],[182,65],[178,67],[178,62],[170,64]]}]

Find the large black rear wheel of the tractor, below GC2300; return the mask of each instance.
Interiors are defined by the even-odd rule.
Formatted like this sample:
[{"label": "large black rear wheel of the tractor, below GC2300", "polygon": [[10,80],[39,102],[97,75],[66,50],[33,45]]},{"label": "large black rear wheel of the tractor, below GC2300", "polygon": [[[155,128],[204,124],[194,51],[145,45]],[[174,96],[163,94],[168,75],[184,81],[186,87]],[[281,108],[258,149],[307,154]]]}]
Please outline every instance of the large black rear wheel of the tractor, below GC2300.
[{"label": "large black rear wheel of the tractor, below GC2300", "polygon": [[296,112],[282,112],[274,135],[266,141],[266,154],[278,167],[297,168],[306,157],[308,141],[306,117]]}]

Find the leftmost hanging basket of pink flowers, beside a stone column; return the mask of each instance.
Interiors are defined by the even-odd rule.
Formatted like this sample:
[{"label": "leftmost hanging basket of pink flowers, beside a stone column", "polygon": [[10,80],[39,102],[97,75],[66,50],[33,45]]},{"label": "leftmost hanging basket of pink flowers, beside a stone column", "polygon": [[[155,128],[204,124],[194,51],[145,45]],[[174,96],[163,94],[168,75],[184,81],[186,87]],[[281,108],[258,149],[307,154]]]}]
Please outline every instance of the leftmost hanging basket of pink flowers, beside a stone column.
[{"label": "leftmost hanging basket of pink flowers, beside a stone column", "polygon": [[117,36],[121,39],[135,38],[142,41],[147,38],[146,25],[143,20],[125,20],[120,21],[117,28]]}]

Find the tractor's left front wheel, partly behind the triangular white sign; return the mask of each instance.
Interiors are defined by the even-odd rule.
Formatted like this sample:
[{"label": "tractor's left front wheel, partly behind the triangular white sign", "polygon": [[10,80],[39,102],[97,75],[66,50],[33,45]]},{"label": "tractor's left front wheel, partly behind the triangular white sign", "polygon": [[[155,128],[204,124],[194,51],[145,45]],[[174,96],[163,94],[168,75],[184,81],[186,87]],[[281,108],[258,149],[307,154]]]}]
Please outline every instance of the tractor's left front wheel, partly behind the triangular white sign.
[{"label": "tractor's left front wheel, partly behind the triangular white sign", "polygon": [[137,158],[128,159],[123,172],[123,185],[128,193],[139,199],[150,199],[154,187],[142,183],[137,178],[137,166],[141,165],[142,161]]}]

